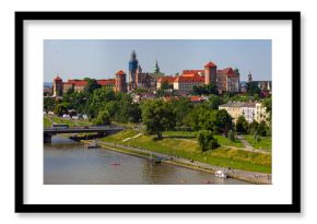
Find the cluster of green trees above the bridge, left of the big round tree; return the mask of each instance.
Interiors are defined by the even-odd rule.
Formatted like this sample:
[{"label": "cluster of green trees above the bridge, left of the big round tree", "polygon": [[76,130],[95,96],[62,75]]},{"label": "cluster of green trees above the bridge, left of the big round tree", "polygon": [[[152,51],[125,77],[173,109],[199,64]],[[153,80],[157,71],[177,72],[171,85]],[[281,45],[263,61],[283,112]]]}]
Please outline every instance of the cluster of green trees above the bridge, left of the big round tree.
[{"label": "cluster of green trees above the bridge, left of the big round tree", "polygon": [[97,125],[108,125],[109,120],[119,122],[140,122],[141,108],[125,93],[115,93],[97,84],[96,80],[86,79],[87,85],[82,92],[70,89],[62,99],[44,98],[44,109],[61,116],[74,109],[87,115]]}]

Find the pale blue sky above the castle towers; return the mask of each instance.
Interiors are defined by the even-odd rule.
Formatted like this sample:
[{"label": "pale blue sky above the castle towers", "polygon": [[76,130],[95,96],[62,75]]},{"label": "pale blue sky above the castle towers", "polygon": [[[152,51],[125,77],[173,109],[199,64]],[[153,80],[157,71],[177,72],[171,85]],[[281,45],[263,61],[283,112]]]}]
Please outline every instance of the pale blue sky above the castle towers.
[{"label": "pale blue sky above the castle towers", "polygon": [[250,70],[254,80],[271,80],[270,39],[46,39],[44,81],[59,74],[68,79],[110,79],[118,70],[128,73],[132,50],[143,71],[152,72],[157,59],[161,71],[175,74],[203,69],[213,61],[218,69],[238,68],[240,80]]}]

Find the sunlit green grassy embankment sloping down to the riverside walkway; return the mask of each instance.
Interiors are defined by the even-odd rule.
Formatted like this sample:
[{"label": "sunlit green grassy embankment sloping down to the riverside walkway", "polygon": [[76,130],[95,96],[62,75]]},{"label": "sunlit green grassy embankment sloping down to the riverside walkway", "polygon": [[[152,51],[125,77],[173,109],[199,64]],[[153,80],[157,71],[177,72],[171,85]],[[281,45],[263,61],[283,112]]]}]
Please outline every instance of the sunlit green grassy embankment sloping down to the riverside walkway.
[{"label": "sunlit green grassy embankment sloping down to the riverside walkway", "polygon": [[[127,129],[117,134],[105,137],[102,140],[116,142],[118,144],[138,146],[149,151],[155,151],[173,156],[191,158],[215,166],[232,167],[237,169],[271,173],[271,155],[246,152],[238,149],[220,146],[216,150],[201,152],[196,140],[195,132],[169,131],[164,132],[162,140],[156,140],[154,135],[141,135],[132,138],[139,132]],[[122,140],[131,138],[128,141]],[[221,144],[231,146],[242,146],[239,141],[230,142],[224,137],[216,135]]]}]

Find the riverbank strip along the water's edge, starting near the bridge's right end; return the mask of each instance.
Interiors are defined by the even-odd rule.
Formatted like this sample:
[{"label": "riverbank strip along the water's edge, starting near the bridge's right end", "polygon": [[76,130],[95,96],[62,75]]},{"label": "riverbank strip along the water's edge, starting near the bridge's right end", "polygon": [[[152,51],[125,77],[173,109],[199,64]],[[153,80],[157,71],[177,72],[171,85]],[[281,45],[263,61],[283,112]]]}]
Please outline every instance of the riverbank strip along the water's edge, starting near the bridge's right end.
[{"label": "riverbank strip along the water's edge, starting near the bridge's right end", "polygon": [[[93,141],[91,140],[82,140],[81,142],[90,144]],[[164,153],[157,153],[140,148],[133,148],[133,146],[127,146],[118,143],[113,143],[113,142],[105,142],[105,141],[98,141],[97,142],[101,148],[108,149],[111,151],[120,152],[120,153],[126,153],[130,154],[133,156],[139,156],[143,157],[146,160],[152,158],[157,158],[161,157],[162,163],[169,163],[176,166],[181,166],[195,170],[200,170],[200,172],[206,172],[210,174],[214,174],[216,170],[223,170],[227,174],[228,177],[249,181],[253,184],[258,184],[258,185],[270,185],[271,184],[271,175],[266,174],[266,173],[259,173],[259,172],[247,172],[247,170],[242,170],[242,169],[233,169],[233,168],[224,168],[221,166],[212,166],[209,164],[204,164],[201,162],[196,162],[192,160],[187,160],[187,158],[181,158],[177,156],[171,156]]]}]

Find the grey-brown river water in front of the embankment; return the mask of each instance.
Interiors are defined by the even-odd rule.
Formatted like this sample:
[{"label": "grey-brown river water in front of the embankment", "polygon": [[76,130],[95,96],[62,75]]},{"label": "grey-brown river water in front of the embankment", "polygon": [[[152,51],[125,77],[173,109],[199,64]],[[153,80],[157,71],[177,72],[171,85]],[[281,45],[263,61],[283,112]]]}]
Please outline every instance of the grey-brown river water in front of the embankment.
[{"label": "grey-brown river water in front of the embankment", "polygon": [[54,137],[44,144],[45,185],[246,185],[234,178],[212,174],[106,149],[84,149],[83,144]]}]

